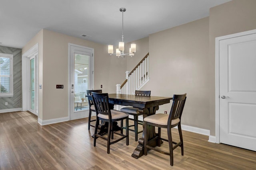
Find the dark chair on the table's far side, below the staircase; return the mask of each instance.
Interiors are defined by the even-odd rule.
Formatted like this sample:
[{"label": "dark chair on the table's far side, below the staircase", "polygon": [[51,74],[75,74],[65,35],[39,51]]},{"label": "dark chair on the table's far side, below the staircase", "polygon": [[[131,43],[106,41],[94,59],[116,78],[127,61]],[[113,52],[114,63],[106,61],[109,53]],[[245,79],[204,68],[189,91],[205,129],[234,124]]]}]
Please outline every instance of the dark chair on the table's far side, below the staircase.
[{"label": "dark chair on the table's far side, below the staircase", "polygon": [[[135,90],[136,96],[150,96],[150,93],[151,91]],[[129,130],[135,133],[135,141],[138,141],[138,133],[142,133],[142,131],[138,131],[138,124],[142,125],[143,123],[143,121],[140,121],[138,119],[138,116],[142,115],[143,111],[135,107],[123,107],[122,109],[120,109],[120,111],[128,113],[129,115],[133,115],[134,118],[133,119],[129,118],[129,120],[134,121],[134,124],[130,125],[129,127],[134,126],[134,129],[129,129]],[[121,123],[121,127],[122,127],[122,123]]]}]

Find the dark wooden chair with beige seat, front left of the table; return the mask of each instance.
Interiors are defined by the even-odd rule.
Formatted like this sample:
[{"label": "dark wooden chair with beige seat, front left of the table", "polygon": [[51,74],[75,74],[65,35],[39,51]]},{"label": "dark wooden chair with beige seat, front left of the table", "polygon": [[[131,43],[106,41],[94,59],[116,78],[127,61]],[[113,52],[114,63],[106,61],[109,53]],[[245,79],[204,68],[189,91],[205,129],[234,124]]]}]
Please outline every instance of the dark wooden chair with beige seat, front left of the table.
[{"label": "dark wooden chair with beige seat, front left of the table", "polygon": [[[128,130],[128,114],[122,111],[110,110],[108,103],[108,93],[96,93],[92,92],[92,100],[96,110],[96,125],[94,130],[94,147],[96,147],[96,139],[98,137],[107,141],[107,153],[110,152],[110,145],[121,141],[122,139],[126,139],[126,145],[129,145],[129,130]],[[97,134],[99,120],[105,121],[108,123],[108,137],[106,138],[106,134]],[[112,124],[116,121],[126,120],[126,135],[122,133],[117,133],[112,130]],[[122,128],[121,128],[122,129]],[[121,130],[122,131],[122,130]],[[114,138],[114,134],[119,135],[119,138]],[[110,139],[111,138],[111,139]]]}]

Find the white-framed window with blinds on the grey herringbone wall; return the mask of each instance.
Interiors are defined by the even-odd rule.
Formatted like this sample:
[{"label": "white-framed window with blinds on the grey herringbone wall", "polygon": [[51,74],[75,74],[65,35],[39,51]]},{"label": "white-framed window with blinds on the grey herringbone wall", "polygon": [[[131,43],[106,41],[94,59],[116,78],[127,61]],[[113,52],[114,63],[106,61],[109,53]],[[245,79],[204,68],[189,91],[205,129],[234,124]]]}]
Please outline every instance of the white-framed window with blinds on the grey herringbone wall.
[{"label": "white-framed window with blinds on the grey herringbone wall", "polygon": [[13,96],[13,55],[0,53],[0,97]]}]

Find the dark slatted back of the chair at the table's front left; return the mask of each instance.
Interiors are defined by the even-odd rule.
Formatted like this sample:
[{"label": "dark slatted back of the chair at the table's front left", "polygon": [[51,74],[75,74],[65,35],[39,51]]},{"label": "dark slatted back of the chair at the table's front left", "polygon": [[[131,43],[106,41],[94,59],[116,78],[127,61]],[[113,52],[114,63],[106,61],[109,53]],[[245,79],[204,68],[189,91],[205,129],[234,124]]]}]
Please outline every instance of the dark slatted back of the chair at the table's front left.
[{"label": "dark slatted back of the chair at the table's front left", "polygon": [[92,92],[92,100],[96,114],[108,115],[108,119],[111,120],[111,112],[108,106],[108,93],[96,93]]}]

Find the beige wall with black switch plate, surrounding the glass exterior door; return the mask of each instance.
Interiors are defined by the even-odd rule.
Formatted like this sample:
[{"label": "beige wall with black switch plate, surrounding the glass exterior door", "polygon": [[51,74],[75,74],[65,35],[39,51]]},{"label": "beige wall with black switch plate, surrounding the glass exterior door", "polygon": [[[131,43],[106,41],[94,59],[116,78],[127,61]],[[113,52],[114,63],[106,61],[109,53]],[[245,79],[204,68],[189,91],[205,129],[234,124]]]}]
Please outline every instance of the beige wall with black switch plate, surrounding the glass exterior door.
[{"label": "beige wall with black switch plate, surrounding the glass exterior door", "polygon": [[[37,41],[38,36],[43,41]],[[41,51],[39,83],[42,90],[39,90],[39,98],[43,110],[39,110],[39,118],[42,120],[68,116],[68,43],[94,48],[94,89],[100,89],[102,84],[103,92],[115,93],[116,84],[125,77],[126,63],[117,57],[110,57],[107,45],[43,29],[22,50],[26,52],[36,43],[39,43]],[[63,84],[64,89],[56,89],[56,84]]]}]

